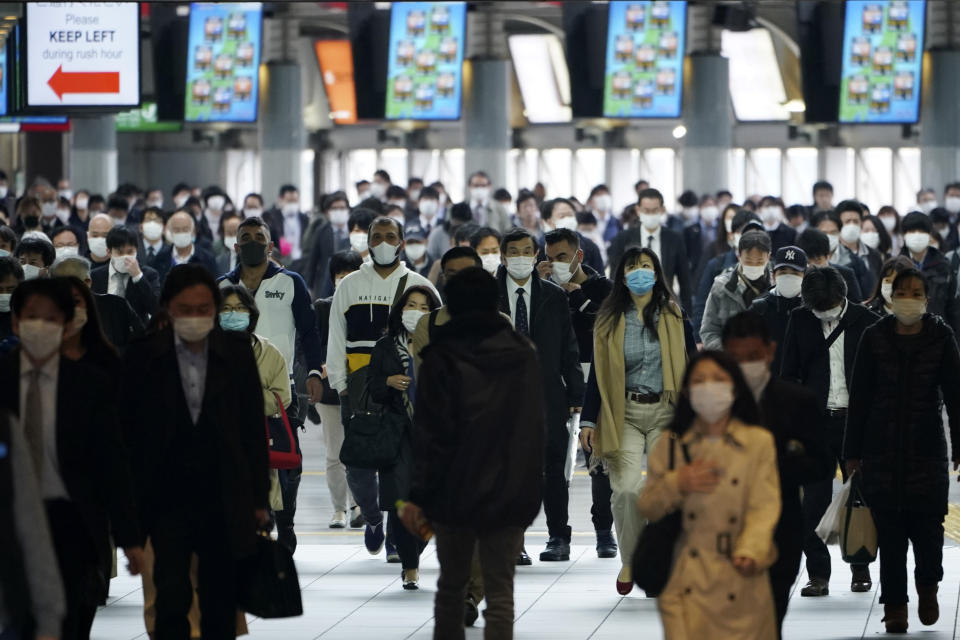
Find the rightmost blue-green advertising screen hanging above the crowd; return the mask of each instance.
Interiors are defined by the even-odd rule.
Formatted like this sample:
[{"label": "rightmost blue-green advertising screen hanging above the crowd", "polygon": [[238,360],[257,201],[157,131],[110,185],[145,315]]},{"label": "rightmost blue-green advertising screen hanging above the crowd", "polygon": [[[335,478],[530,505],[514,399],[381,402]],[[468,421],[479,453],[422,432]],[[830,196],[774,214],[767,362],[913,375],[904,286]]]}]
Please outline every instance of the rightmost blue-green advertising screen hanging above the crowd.
[{"label": "rightmost blue-green advertising screen hanging above the crowd", "polygon": [[924,0],[849,0],[843,29],[840,122],[920,117]]}]

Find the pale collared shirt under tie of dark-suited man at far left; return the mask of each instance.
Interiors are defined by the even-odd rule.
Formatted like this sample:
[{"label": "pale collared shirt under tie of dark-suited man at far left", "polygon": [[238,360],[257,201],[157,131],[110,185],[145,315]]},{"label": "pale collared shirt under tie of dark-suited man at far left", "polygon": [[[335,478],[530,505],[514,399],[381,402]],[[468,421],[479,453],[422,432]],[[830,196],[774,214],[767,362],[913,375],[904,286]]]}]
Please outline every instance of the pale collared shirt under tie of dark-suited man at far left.
[{"label": "pale collared shirt under tie of dark-suited man at far left", "polygon": [[[27,409],[27,390],[34,370],[33,362],[20,352],[20,428],[29,422],[23,413]],[[43,474],[40,494],[44,500],[69,498],[60,477],[60,459],[57,456],[57,376],[60,373],[60,355],[54,354],[40,367],[37,384],[40,386],[41,424],[43,425]]]}]

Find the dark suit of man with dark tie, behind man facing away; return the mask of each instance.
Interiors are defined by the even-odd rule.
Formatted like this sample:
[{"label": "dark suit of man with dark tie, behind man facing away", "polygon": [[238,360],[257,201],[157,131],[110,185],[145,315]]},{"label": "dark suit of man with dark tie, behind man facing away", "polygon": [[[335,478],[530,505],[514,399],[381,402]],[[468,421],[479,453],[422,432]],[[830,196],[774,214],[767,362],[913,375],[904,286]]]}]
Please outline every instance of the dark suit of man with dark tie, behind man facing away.
[{"label": "dark suit of man with dark tie, behind man facing away", "polygon": [[[552,282],[541,280],[536,270],[530,276],[530,300],[527,318],[530,339],[537,347],[543,374],[543,392],[547,408],[547,452],[544,474],[543,510],[551,538],[560,538],[570,544],[567,507],[570,500],[569,484],[564,466],[570,452],[570,433],[567,420],[570,407],[583,406],[584,380],[580,368],[577,336],[570,321],[567,295]],[[500,286],[500,311],[510,316],[510,298],[517,285],[505,269],[497,274]],[[512,290],[508,289],[508,286]]]}]

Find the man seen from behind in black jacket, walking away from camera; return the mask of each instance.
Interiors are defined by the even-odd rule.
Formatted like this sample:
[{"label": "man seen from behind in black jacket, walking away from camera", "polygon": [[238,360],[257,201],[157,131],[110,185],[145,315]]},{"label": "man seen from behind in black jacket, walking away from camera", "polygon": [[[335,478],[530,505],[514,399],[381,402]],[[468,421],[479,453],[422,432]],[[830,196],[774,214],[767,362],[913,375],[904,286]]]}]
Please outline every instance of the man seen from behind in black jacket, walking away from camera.
[{"label": "man seen from behind in black jacket, walking away from camera", "polygon": [[479,267],[450,279],[451,320],[435,329],[419,370],[412,504],[401,517],[416,532],[425,515],[436,532],[435,638],[464,637],[474,546],[486,635],[513,637],[515,558],[540,510],[549,438],[541,367],[530,341],[497,313],[497,289]]}]

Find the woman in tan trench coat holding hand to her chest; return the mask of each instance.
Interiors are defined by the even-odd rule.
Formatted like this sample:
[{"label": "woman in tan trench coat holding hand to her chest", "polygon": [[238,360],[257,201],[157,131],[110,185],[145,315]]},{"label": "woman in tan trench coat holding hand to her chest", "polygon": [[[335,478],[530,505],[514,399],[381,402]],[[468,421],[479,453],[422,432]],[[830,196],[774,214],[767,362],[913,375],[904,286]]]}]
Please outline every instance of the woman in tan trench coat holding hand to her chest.
[{"label": "woman in tan trench coat holding hand to her chest", "polygon": [[706,351],[691,361],[669,437],[650,456],[637,502],[650,521],[683,513],[670,579],[657,600],[667,640],[777,637],[767,570],[777,558],[780,480],[773,436],[753,426],[757,417],[729,356]]}]

